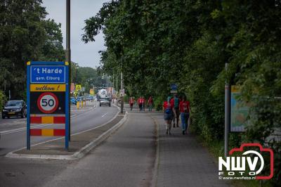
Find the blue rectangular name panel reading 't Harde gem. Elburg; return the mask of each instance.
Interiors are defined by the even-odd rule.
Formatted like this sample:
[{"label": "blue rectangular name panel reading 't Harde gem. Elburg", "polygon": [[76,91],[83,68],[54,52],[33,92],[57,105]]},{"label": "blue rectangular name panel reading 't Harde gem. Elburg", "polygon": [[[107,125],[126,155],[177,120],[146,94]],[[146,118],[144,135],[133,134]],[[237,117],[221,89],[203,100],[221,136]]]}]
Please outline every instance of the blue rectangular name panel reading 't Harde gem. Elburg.
[{"label": "blue rectangular name panel reading 't Harde gem. Elburg", "polygon": [[65,83],[65,66],[31,65],[31,83]]}]

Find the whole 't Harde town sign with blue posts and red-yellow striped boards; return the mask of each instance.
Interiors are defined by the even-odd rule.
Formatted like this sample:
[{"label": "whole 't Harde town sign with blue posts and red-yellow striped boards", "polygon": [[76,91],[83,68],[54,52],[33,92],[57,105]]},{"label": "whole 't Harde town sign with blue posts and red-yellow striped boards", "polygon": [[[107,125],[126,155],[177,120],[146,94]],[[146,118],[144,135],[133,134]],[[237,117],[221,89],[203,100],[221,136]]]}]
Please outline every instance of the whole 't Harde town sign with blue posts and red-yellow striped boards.
[{"label": "whole 't Harde town sign with blue posts and red-yellow striped boards", "polygon": [[[30,136],[70,134],[70,85],[67,62],[27,62],[27,150]],[[30,124],[65,124],[65,129],[30,129]]]}]

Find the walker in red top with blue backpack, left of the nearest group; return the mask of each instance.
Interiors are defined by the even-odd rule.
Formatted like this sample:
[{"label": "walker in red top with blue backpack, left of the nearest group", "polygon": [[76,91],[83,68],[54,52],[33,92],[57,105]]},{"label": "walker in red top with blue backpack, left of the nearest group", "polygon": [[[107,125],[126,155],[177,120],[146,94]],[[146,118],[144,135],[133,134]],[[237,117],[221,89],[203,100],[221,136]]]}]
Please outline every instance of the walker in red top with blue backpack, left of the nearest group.
[{"label": "walker in red top with blue backpack, left of the nearest group", "polygon": [[166,123],[166,134],[171,134],[171,120],[173,120],[174,112],[173,112],[174,105],[171,103],[171,97],[168,97],[167,101],[163,103],[163,112],[164,112],[164,121]]}]

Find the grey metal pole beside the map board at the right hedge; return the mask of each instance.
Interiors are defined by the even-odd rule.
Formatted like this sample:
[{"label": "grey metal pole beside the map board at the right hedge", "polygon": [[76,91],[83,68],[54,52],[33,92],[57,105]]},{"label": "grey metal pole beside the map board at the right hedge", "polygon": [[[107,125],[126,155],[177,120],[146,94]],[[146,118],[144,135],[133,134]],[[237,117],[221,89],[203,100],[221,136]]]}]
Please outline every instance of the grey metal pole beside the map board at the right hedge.
[{"label": "grey metal pole beside the map board at the right hedge", "polygon": [[[226,73],[228,73],[228,63],[226,63]],[[230,127],[230,83],[226,79],[225,86],[225,108],[224,108],[224,156],[228,156],[228,135]]]}]

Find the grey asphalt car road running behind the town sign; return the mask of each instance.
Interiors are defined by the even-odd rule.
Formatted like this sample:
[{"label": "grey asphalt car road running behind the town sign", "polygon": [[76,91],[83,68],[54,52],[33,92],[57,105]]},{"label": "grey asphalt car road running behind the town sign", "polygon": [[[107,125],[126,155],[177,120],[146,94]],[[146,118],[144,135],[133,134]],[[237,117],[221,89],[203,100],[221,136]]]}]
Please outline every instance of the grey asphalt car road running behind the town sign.
[{"label": "grey asphalt car road running behind the town sign", "polygon": [[[85,131],[100,124],[104,124],[114,117],[118,109],[116,107],[99,106],[98,102],[87,102],[83,109],[77,110],[74,105],[71,109],[71,133]],[[34,124],[31,128],[37,129],[64,129],[62,124]],[[26,118],[0,119],[0,157],[7,153],[26,146]],[[37,144],[51,140],[48,136],[32,136],[31,144]],[[1,186],[1,185],[0,185]]]}]

